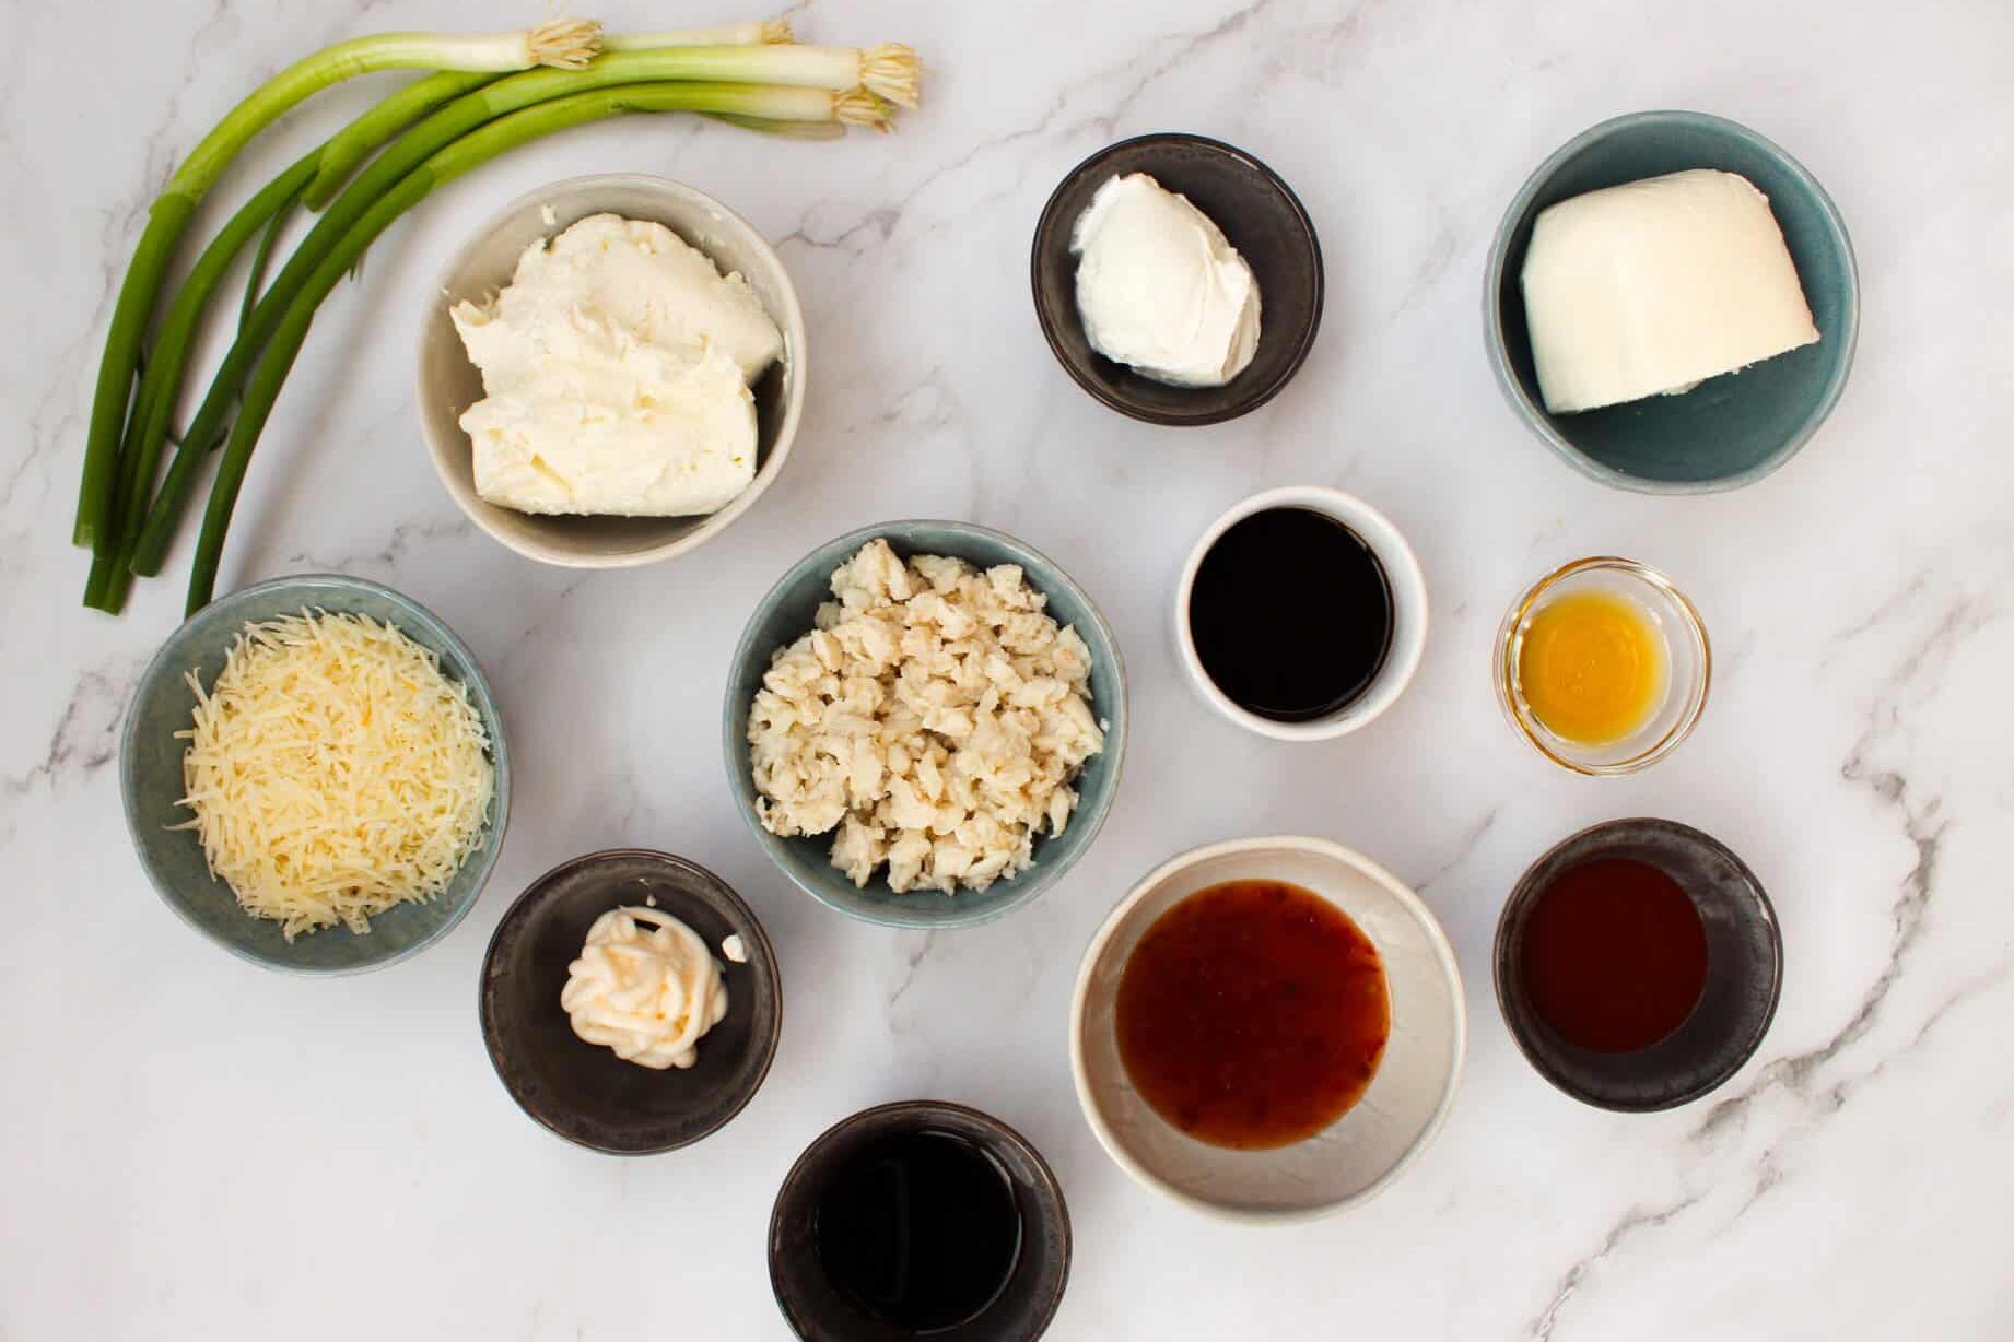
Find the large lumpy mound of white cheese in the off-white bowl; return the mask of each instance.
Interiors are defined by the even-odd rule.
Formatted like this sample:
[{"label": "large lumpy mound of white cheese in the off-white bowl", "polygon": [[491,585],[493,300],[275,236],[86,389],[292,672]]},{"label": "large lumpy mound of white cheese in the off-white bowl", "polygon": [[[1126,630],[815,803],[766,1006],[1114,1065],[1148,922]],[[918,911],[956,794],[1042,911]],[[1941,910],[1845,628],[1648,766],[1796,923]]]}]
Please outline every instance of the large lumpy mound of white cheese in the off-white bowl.
[{"label": "large lumpy mound of white cheese in the off-white bowl", "polygon": [[713,513],[755,479],[749,384],[783,336],[739,274],[663,223],[592,215],[449,314],[483,400],[475,493],[520,513]]}]

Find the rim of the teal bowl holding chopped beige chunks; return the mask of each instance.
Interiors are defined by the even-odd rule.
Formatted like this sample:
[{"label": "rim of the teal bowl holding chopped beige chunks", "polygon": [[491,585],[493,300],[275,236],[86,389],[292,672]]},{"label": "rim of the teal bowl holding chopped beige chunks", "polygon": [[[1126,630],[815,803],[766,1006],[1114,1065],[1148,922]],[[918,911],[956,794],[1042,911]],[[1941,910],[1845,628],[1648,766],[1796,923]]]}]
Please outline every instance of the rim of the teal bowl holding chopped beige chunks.
[{"label": "rim of the teal bowl holding chopped beige chunks", "polygon": [[[763,614],[769,612],[769,608],[773,608],[781,600],[781,594],[787,588],[802,581],[810,571],[814,571],[812,565],[814,555],[820,555],[828,549],[858,549],[860,545],[866,545],[876,537],[888,537],[904,527],[939,527],[951,531],[953,535],[979,537],[1005,545],[1013,551],[1019,551],[1035,565],[1039,565],[1043,569],[1043,575],[1053,573],[1055,575],[1053,585],[1067,590],[1077,602],[1084,604],[1084,610],[1094,622],[1100,642],[1104,642],[1104,646],[1112,650],[1112,672],[1114,672],[1114,684],[1118,686],[1118,702],[1108,704],[1106,706],[1108,712],[1104,714],[1116,726],[1116,730],[1106,732],[1106,752],[1110,759],[1108,767],[1112,771],[1112,783],[1106,789],[1104,805],[1096,807],[1090,815],[1084,815],[1080,811],[1071,817],[1075,825],[1090,825],[1090,829],[1084,831],[1084,841],[1077,843],[1073,853],[1065,855],[1057,863],[1029,867],[1025,875],[1013,877],[1015,881],[1025,879],[1027,885],[1017,887],[1011,893],[1011,897],[1001,899],[999,903],[993,903],[977,913],[961,913],[957,899],[953,897],[945,899],[943,913],[939,913],[937,909],[912,911],[896,907],[890,907],[886,911],[870,911],[846,903],[836,903],[828,899],[822,889],[816,889],[806,881],[798,879],[796,871],[792,871],[789,867],[785,867],[775,859],[775,845],[783,843],[783,839],[777,839],[767,829],[763,829],[761,819],[755,815],[755,807],[749,805],[749,797],[753,795],[753,783],[747,777],[747,740],[743,738],[741,732],[735,730],[735,722],[745,716],[737,712],[735,704],[737,670],[749,664],[753,658],[757,656],[765,658],[769,656],[769,652],[773,652],[773,648],[755,648],[755,630],[763,622]],[[826,575],[830,577],[830,573]],[[1035,585],[1047,592],[1051,583],[1039,581]],[[1015,909],[1033,903],[1037,895],[1045,893],[1051,885],[1063,879],[1063,873],[1067,873],[1077,863],[1077,859],[1084,853],[1088,853],[1094,843],[1098,843],[1098,835],[1106,827],[1106,817],[1112,813],[1112,803],[1114,799],[1118,799],[1120,785],[1124,783],[1126,777],[1126,736],[1128,736],[1126,654],[1120,650],[1118,634],[1114,634],[1112,624],[1106,620],[1106,612],[1098,610],[1098,602],[1094,602],[1092,596],[1082,585],[1077,585],[1077,579],[1073,579],[1067,571],[1063,571],[1063,565],[1059,565],[1055,559],[1041,553],[1039,549],[1035,549],[1033,545],[1029,545],[1019,537],[1007,535],[1005,531],[995,531],[993,527],[981,527],[975,521],[949,521],[939,517],[908,517],[898,521],[878,521],[874,525],[858,527],[854,531],[846,531],[844,535],[836,535],[830,541],[814,545],[802,559],[792,563],[783,571],[783,575],[769,585],[767,592],[763,592],[761,600],[755,602],[755,610],[749,612],[747,624],[741,628],[741,638],[735,640],[733,660],[727,664],[727,688],[723,698],[725,702],[721,710],[721,761],[727,767],[727,789],[729,793],[733,793],[735,811],[741,815],[741,823],[749,827],[751,835],[755,835],[755,843],[757,847],[761,847],[763,857],[767,857],[777,871],[789,877],[792,885],[812,895],[812,899],[818,899],[822,905],[826,905],[836,913],[844,913],[848,917],[872,924],[876,928],[898,928],[904,932],[943,932],[951,928],[979,928],[983,924],[1007,917],[1007,913],[1013,913]]]}]

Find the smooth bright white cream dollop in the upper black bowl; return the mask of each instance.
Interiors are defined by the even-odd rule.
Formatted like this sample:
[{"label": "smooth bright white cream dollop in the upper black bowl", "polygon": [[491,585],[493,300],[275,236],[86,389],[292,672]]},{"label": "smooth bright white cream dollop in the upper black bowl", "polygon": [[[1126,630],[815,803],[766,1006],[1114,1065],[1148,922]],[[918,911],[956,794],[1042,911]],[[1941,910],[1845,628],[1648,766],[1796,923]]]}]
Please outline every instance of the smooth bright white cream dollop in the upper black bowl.
[{"label": "smooth bright white cream dollop in the upper black bowl", "polygon": [[1098,187],[1069,235],[1084,336],[1156,382],[1222,386],[1259,348],[1259,282],[1222,229],[1146,173]]}]

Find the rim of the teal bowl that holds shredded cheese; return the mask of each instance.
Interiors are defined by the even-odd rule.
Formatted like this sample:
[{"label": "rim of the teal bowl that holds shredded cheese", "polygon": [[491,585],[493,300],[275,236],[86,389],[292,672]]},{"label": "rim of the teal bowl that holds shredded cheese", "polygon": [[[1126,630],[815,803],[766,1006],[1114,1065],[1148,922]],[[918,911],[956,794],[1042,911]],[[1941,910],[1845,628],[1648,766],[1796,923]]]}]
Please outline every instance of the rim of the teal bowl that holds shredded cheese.
[{"label": "rim of the teal bowl that holds shredded cheese", "polygon": [[[395,606],[397,610],[405,612],[413,620],[413,624],[419,624],[421,628],[427,630],[427,634],[431,634],[441,644],[455,650],[455,656],[459,656],[461,662],[469,668],[469,676],[467,680],[463,680],[463,684],[469,688],[469,698],[475,702],[475,710],[483,716],[483,726],[489,730],[489,763],[495,775],[495,785],[493,785],[495,793],[491,797],[491,809],[495,819],[489,821],[491,837],[469,859],[477,863],[475,883],[469,887],[469,893],[461,901],[461,907],[449,909],[447,919],[439,928],[435,928],[427,938],[413,942],[405,950],[385,956],[383,960],[367,960],[363,964],[348,964],[340,968],[318,968],[304,964],[286,964],[282,960],[268,960],[266,956],[258,956],[236,942],[215,936],[209,928],[195,921],[189,915],[189,911],[181,907],[181,901],[169,893],[169,885],[173,885],[173,881],[167,881],[159,871],[155,871],[153,863],[147,859],[147,847],[139,841],[139,813],[135,803],[137,787],[131,765],[133,740],[139,734],[137,708],[141,692],[145,690],[145,686],[153,684],[155,678],[161,674],[179,674],[181,670],[187,670],[185,666],[181,666],[179,660],[171,660],[169,654],[179,654],[183,650],[189,626],[203,616],[209,616],[213,620],[224,618],[232,606],[242,606],[248,598],[264,596],[268,592],[280,592],[286,588],[306,588],[310,583],[322,588],[328,585],[350,588],[354,592],[371,594]],[[306,602],[306,606],[312,608],[314,602]],[[161,903],[173,909],[175,917],[179,917],[183,924],[199,932],[205,942],[222,946],[224,950],[238,956],[246,964],[256,964],[262,970],[274,970],[276,974],[296,974],[300,978],[348,978],[352,974],[369,974],[373,970],[395,966],[401,960],[411,960],[419,952],[441,942],[441,938],[453,932],[461,924],[461,919],[469,915],[469,909],[475,907],[475,903],[481,899],[483,889],[489,885],[489,875],[495,871],[497,857],[503,853],[503,831],[510,827],[510,746],[503,742],[503,712],[497,708],[495,696],[489,692],[489,680],[483,676],[483,668],[475,660],[475,654],[469,650],[469,646],[461,642],[461,638],[451,628],[447,628],[445,620],[441,620],[431,610],[427,610],[413,598],[405,596],[403,592],[395,592],[393,588],[371,581],[369,577],[350,577],[348,573],[288,573],[286,577],[268,577],[266,581],[256,581],[248,588],[238,588],[236,592],[218,598],[203,610],[183,620],[179,626],[175,626],[175,632],[161,642],[161,648],[155,650],[153,658],[149,658],[147,668],[139,674],[139,680],[133,682],[133,696],[127,702],[125,722],[119,728],[119,801],[125,809],[127,837],[133,841],[133,855],[139,857],[141,871],[147,873],[147,883],[153,885],[153,893],[159,895]]]}]

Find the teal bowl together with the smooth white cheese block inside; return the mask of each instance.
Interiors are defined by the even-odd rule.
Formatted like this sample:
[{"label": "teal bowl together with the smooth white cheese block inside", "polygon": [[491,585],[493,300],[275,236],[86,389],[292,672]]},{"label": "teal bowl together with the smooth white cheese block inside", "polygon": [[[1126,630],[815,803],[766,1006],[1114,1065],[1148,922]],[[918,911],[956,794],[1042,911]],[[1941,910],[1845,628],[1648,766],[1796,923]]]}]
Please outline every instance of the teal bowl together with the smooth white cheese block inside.
[{"label": "teal bowl together with the smooth white cheese block inside", "polygon": [[1740,489],[1845,390],[1859,272],[1819,179],[1748,127],[1615,117],[1504,211],[1482,338],[1517,416],[1569,467],[1635,493]]}]

